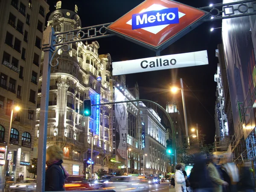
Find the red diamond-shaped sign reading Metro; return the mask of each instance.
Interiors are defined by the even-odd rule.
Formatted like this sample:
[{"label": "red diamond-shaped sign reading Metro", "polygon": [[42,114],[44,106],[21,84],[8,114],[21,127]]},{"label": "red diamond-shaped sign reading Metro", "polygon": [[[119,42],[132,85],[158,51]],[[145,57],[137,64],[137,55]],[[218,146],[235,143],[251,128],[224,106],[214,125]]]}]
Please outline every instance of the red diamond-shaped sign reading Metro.
[{"label": "red diamond-shaped sign reading Metro", "polygon": [[152,50],[163,50],[202,23],[209,13],[173,0],[145,0],[108,31]]}]

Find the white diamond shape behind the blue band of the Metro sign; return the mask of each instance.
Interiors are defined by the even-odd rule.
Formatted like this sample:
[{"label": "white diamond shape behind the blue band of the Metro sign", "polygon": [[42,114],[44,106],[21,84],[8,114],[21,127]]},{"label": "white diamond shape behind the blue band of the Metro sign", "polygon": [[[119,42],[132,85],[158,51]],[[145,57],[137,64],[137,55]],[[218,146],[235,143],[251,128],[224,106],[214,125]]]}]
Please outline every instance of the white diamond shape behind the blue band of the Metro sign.
[{"label": "white diamond shape behind the blue band of the Metro sign", "polygon": [[[150,12],[150,11],[160,11],[160,10],[163,10],[163,9],[168,9],[168,7],[153,4],[150,7],[148,7],[147,9],[143,9],[140,13]],[[184,14],[182,12],[179,12],[179,19],[181,17],[183,17],[184,15],[186,15],[186,14]],[[129,20],[126,24],[132,25],[132,20]],[[148,31],[148,32],[151,32],[151,33],[154,33],[154,34],[157,34],[169,25],[170,24],[160,25],[160,26],[151,26],[151,27],[145,27],[145,28],[141,28],[141,29],[144,29],[145,31]]]}]

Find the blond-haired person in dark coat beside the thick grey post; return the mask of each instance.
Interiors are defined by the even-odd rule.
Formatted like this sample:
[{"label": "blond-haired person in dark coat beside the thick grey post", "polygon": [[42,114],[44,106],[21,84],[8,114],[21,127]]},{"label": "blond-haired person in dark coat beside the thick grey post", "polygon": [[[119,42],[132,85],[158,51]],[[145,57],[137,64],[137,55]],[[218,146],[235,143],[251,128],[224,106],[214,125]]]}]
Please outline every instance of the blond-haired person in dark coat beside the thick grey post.
[{"label": "blond-haired person in dark coat beside the thick grey post", "polygon": [[61,165],[63,151],[57,145],[49,146],[46,150],[45,191],[64,191],[64,183],[68,173]]}]

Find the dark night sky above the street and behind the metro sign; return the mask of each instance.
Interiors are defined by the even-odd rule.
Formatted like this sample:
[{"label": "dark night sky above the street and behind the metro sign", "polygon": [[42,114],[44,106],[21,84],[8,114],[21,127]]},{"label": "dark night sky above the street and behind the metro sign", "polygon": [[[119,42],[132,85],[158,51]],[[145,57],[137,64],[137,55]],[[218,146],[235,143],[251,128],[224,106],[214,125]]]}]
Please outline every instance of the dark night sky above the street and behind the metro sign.
[{"label": "dark night sky above the street and behind the metro sign", "polygon": [[[210,3],[222,2],[222,0],[178,1],[193,7],[209,6]],[[62,0],[62,2],[64,3],[65,0]],[[79,6],[78,14],[81,17],[82,27],[110,23],[125,15],[142,2],[143,0],[77,0],[77,5]],[[56,0],[48,0],[48,3],[50,5],[50,12],[52,12],[55,9]],[[209,65],[137,73],[126,76],[128,87],[133,87],[138,82],[140,99],[157,101],[164,108],[167,101],[176,100],[180,104],[179,111],[183,111],[181,108],[181,94],[174,96],[169,92],[169,87],[173,81],[176,81],[176,85],[180,87],[177,80],[183,78],[184,83],[207,109],[200,104],[191,91],[185,90],[189,128],[198,123],[202,133],[207,135],[207,143],[214,141],[215,134],[215,122],[212,118],[214,117],[216,90],[214,74],[218,63],[218,59],[215,57],[215,49],[217,49],[217,44],[221,43],[221,29],[210,32],[209,29],[211,27],[221,27],[221,21],[203,23],[161,52],[161,55],[170,55],[207,50]],[[112,61],[155,56],[153,51],[119,37],[102,38],[97,41],[100,45],[99,54],[110,53]],[[185,84],[184,87],[186,88]]]}]

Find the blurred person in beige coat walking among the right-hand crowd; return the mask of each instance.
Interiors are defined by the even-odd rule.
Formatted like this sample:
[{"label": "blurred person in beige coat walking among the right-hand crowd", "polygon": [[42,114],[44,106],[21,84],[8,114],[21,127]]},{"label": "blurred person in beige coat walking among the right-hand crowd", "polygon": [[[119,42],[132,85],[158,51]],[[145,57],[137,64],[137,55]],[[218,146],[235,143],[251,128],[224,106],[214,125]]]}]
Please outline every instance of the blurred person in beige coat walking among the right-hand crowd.
[{"label": "blurred person in beige coat walking among the right-hand crowd", "polygon": [[221,179],[218,169],[216,168],[219,162],[220,159],[217,156],[212,155],[212,161],[207,167],[210,180],[213,184],[213,192],[223,192],[222,186],[228,186],[228,183]]}]

